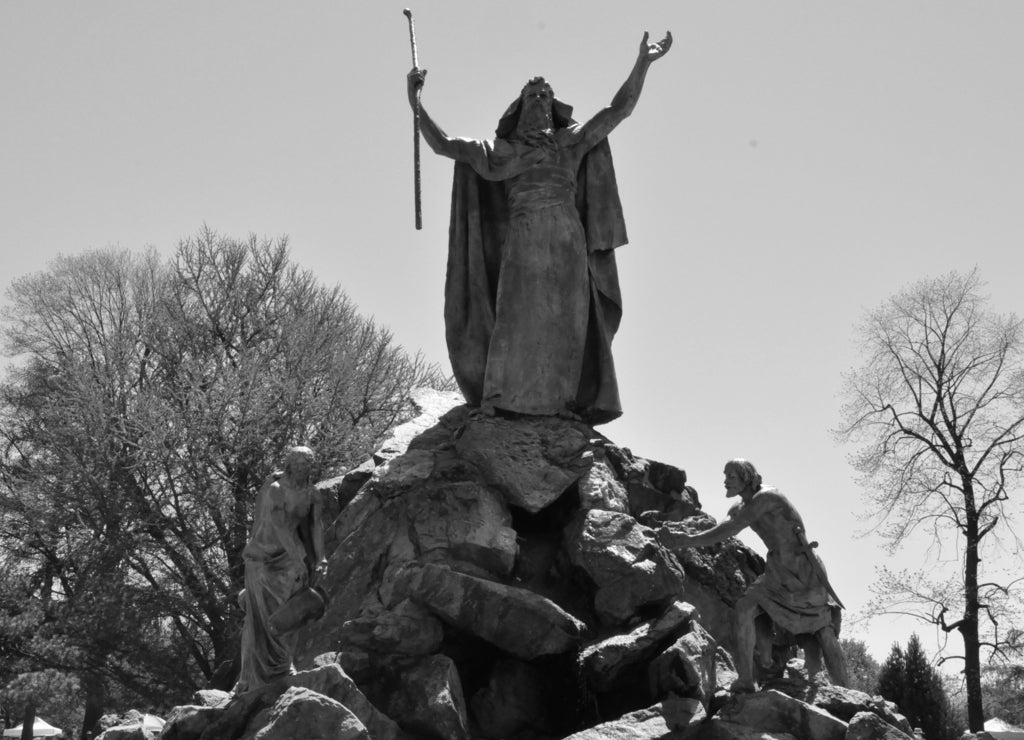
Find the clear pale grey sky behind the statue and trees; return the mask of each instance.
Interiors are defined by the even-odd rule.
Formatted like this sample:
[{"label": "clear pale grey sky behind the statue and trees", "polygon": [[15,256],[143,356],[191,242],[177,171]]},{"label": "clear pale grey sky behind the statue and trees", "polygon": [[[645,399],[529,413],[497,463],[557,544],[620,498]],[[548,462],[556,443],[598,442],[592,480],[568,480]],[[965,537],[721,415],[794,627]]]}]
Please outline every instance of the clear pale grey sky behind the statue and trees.
[{"label": "clear pale grey sky behind the statue and trees", "polygon": [[[410,0],[412,1],[412,0]],[[57,254],[173,253],[208,226],[288,236],[410,350],[447,365],[452,163],[422,151],[388,0],[0,3],[2,278]],[[844,636],[884,659],[907,619],[861,617],[882,565],[836,442],[854,328],[907,285],[977,266],[1020,312],[1024,3],[989,0],[444,0],[411,7],[423,103],[489,138],[544,75],[586,120],[643,36],[674,37],[611,147],[630,244],[613,350],[625,413],[601,427],[727,510],[752,460],[821,542]],[[744,537],[763,554],[756,537]],[[955,645],[955,644],[954,644]],[[956,652],[952,650],[951,652]]]}]

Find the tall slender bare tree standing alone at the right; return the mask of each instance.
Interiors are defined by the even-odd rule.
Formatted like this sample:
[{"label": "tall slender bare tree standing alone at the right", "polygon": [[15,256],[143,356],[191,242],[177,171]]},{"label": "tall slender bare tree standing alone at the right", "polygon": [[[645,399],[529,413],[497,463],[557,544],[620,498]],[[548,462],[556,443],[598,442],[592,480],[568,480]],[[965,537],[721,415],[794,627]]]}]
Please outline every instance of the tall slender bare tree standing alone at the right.
[{"label": "tall slender bare tree standing alone at the right", "polygon": [[837,430],[860,445],[851,462],[891,550],[919,529],[940,550],[953,535],[959,582],[886,571],[880,585],[962,636],[972,731],[983,723],[981,649],[1006,647],[1013,630],[997,607],[1020,580],[983,569],[982,556],[1014,538],[1007,503],[1024,460],[1024,329],[986,304],[974,270],[918,282],[869,312]]}]

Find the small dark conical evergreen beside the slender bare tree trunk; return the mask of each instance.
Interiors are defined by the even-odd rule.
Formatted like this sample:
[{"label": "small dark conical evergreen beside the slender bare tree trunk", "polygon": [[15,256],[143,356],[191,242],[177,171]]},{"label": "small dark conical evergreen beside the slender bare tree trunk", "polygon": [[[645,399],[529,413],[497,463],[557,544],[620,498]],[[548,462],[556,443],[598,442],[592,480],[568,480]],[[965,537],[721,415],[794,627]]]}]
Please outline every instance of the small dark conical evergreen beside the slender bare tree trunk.
[{"label": "small dark conical evergreen beside the slender bare tree trunk", "polygon": [[906,649],[892,647],[879,672],[879,694],[896,702],[910,725],[920,727],[926,740],[956,740],[956,727],[942,677],[932,667],[921,639],[911,635]]}]

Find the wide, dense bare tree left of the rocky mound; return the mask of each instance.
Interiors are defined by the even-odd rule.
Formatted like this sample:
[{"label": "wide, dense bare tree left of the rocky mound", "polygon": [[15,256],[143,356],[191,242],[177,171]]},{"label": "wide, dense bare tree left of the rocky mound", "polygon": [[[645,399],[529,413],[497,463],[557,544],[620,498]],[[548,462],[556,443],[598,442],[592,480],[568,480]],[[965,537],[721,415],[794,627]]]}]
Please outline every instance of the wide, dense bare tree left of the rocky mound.
[{"label": "wide, dense bare tree left of the rocky mound", "polygon": [[283,241],[60,257],[9,297],[0,549],[41,625],[23,657],[83,677],[86,727],[105,683],[229,688],[260,482],[291,444],[361,462],[411,388],[446,379]]}]

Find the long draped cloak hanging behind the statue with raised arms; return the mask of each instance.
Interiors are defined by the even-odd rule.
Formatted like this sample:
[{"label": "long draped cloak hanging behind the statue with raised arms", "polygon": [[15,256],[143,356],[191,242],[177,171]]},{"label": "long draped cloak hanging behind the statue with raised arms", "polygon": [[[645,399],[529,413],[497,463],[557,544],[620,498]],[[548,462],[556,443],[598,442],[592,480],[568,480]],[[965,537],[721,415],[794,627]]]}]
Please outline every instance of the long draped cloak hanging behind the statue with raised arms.
[{"label": "long draped cloak hanging behind the statue with raised arms", "polygon": [[[515,107],[513,103],[510,113]],[[575,126],[567,115],[570,110],[556,101],[556,127],[560,125],[561,129],[567,130]],[[557,115],[559,112],[562,112],[561,120]],[[517,115],[517,111],[515,113]],[[509,114],[506,114],[499,134],[503,132],[503,126],[508,129],[508,120]],[[556,136],[564,134],[565,130],[556,130]],[[510,222],[516,214],[510,209],[507,181],[499,179],[500,172],[490,172],[487,177],[479,174],[480,170],[486,170],[500,161],[503,147],[507,153],[510,144],[496,138],[493,143],[463,140],[462,145],[466,150],[467,147],[474,150],[456,160],[452,188],[444,287],[444,328],[452,367],[470,404],[480,405],[483,401],[497,398],[494,402],[497,408],[536,413],[536,408],[517,407],[514,401],[508,402],[509,398],[515,397],[515,389],[501,385],[515,383],[516,380],[508,380],[500,365],[528,363],[540,358],[526,356],[529,352],[524,347],[509,346],[507,343],[498,346],[496,340],[497,327],[508,329],[518,320],[525,320],[521,314],[516,314],[521,310],[522,301],[510,301],[507,296],[503,298],[499,284],[508,264],[509,249],[528,250],[530,245],[521,238],[515,245],[508,244]],[[494,169],[497,171],[500,166],[495,165]],[[575,177],[574,205],[585,240],[581,259],[586,260],[587,287],[583,300],[587,306],[581,309],[586,311],[586,327],[580,337],[571,336],[575,330],[564,327],[565,341],[579,342],[583,354],[575,398],[566,405],[568,410],[579,413],[585,421],[597,424],[622,415],[611,356],[611,340],[622,318],[622,295],[613,250],[625,245],[627,237],[607,139],[602,139],[584,155]],[[520,277],[523,284],[528,285],[528,275],[516,275],[516,279]],[[515,286],[503,287],[504,291],[514,289]],[[517,307],[507,309],[506,304],[517,304]],[[529,320],[537,321],[538,318],[534,315]],[[550,321],[556,331],[564,325],[564,322],[560,323],[563,319],[561,315],[540,318]],[[499,363],[497,368],[496,363]],[[496,378],[499,379],[499,387],[494,387]],[[536,394],[537,390],[530,389],[530,392]]]}]

